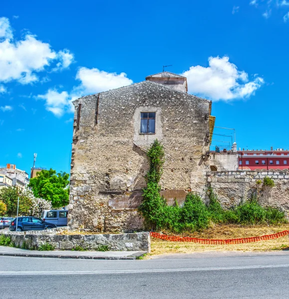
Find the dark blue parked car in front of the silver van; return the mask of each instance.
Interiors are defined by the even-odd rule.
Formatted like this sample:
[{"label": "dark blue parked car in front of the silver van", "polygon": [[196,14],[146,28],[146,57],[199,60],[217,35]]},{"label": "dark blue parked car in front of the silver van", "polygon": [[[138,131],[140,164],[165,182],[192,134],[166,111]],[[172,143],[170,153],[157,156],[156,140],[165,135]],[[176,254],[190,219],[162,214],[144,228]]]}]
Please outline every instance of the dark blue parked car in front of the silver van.
[{"label": "dark blue parked car in front of the silver van", "polygon": [[[53,223],[49,223],[46,221],[41,220],[37,217],[18,217],[17,223],[17,231],[26,231],[26,230],[43,230],[43,229],[50,229],[55,228],[56,225]],[[16,229],[16,218],[14,218],[9,226],[10,231],[15,231]]]}]

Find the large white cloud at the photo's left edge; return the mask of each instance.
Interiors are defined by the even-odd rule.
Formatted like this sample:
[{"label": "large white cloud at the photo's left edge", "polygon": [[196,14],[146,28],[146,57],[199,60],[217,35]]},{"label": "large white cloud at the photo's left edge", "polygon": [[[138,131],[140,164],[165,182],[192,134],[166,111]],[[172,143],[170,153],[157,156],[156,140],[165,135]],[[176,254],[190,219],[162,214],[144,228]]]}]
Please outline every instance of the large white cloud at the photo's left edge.
[{"label": "large white cloud at the photo's left edge", "polygon": [[12,28],[6,17],[0,18],[0,82],[17,80],[21,84],[38,81],[36,73],[45,70],[51,63],[64,69],[73,61],[69,50],[58,53],[50,44],[27,33],[23,39],[14,40]]}]

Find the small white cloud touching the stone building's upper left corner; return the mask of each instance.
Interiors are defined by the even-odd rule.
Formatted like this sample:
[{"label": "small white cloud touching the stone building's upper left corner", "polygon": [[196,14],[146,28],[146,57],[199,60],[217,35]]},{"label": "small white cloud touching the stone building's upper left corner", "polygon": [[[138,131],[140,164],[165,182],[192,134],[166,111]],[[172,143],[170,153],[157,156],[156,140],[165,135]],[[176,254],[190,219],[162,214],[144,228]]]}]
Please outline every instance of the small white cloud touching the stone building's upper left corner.
[{"label": "small white cloud touching the stone building's upper left corner", "polygon": [[70,97],[66,91],[58,92],[56,89],[49,89],[45,95],[38,95],[37,98],[45,100],[46,110],[60,117],[70,106]]}]

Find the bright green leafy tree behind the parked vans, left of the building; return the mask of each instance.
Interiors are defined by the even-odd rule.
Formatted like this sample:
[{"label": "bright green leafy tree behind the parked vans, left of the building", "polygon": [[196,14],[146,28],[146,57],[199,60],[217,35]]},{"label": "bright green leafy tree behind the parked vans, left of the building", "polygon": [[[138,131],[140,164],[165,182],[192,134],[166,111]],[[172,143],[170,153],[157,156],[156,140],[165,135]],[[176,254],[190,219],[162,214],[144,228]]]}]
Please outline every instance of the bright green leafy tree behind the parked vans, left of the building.
[{"label": "bright green leafy tree behind the parked vans, left of the building", "polygon": [[35,197],[51,201],[53,208],[62,207],[69,202],[69,174],[56,170],[41,170],[30,179],[29,187]]}]

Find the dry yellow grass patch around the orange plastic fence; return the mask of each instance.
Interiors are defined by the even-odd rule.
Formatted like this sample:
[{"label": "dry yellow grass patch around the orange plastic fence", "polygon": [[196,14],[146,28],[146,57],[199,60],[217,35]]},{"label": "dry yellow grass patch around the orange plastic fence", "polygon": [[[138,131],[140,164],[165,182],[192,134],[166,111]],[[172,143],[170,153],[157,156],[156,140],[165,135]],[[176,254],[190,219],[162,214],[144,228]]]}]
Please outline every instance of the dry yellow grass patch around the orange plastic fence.
[{"label": "dry yellow grass patch around the orange plastic fence", "polygon": [[[276,226],[256,225],[251,227],[242,227],[238,225],[215,225],[214,227],[204,230],[202,232],[182,234],[182,236],[201,239],[237,239],[270,235],[288,229],[288,224]],[[286,248],[289,248],[288,236],[269,241],[226,245],[207,245],[187,242],[171,242],[151,238],[151,253],[148,256],[206,251],[271,251],[283,250]]]}]

